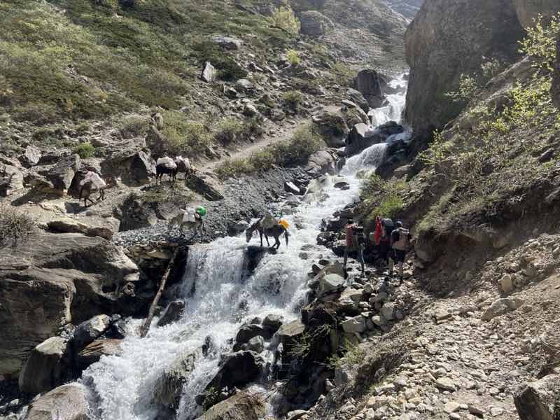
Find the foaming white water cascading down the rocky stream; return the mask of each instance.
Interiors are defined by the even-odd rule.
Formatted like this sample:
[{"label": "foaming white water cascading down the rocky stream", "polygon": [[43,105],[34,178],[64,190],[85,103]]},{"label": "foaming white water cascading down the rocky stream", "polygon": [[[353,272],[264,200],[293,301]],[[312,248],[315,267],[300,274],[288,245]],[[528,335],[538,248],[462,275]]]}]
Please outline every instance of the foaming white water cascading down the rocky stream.
[{"label": "foaming white water cascading down the rocky stream", "polygon": [[[393,109],[400,106],[401,100],[404,101],[403,98],[394,99]],[[393,99],[390,97],[389,101]],[[400,119],[389,115],[384,118]],[[141,321],[135,321],[123,340],[122,354],[102,356],[84,372],[83,383],[92,387],[99,397],[99,419],[155,419],[158,415],[158,408],[153,404],[155,381],[178,356],[197,351],[207,337],[211,337],[216,351],[197,360],[177,413],[180,420],[195,419],[200,414],[195,396],[216,374],[220,353],[230,351],[228,340],[235,337],[243,321],[279,314],[288,322],[299,316],[307,293],[309,271],[309,261],[300,258],[302,246],[316,244],[318,226],[323,218],[357,200],[360,181],[356,179],[356,172],[374,169],[385,150],[386,144],[378,144],[349,159],[342,172],[349,189],[338,190],[332,182],[327,182],[323,186],[327,195],[324,201],[301,204],[295,214],[287,216],[289,246],[283,242],[278,253],[265,255],[248,278],[244,278],[243,273],[244,237],[222,238],[211,244],[190,247],[186,274],[179,288],[181,297],[186,300],[181,320],[162,328],[154,321],[144,339],[135,332]],[[253,238],[252,244],[258,245],[258,239]],[[309,260],[331,253],[316,245],[306,252]]]}]

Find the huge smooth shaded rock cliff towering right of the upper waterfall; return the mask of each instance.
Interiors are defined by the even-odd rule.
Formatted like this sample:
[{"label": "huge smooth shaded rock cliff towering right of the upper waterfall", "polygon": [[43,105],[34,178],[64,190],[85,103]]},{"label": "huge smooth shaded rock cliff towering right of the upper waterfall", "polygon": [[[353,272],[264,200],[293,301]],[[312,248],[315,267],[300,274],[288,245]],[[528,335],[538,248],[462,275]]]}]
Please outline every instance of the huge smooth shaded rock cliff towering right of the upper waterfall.
[{"label": "huge smooth shaded rock cliff towering right of the upper waterfall", "polygon": [[405,34],[410,66],[405,118],[414,129],[443,127],[465,104],[445,94],[485,57],[512,63],[524,31],[512,0],[426,0]]}]

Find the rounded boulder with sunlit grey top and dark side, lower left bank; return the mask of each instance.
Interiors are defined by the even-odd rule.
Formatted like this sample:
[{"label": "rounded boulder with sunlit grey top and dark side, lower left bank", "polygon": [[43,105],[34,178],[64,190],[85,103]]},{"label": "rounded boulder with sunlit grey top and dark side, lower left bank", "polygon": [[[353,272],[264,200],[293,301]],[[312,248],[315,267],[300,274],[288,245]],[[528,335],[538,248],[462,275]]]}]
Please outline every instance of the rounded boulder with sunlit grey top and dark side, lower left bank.
[{"label": "rounded boulder with sunlit grey top and dark side, lower left bank", "polygon": [[62,337],[50,337],[31,351],[20,372],[20,391],[36,394],[62,383],[68,367],[64,364],[67,362],[66,344]]}]

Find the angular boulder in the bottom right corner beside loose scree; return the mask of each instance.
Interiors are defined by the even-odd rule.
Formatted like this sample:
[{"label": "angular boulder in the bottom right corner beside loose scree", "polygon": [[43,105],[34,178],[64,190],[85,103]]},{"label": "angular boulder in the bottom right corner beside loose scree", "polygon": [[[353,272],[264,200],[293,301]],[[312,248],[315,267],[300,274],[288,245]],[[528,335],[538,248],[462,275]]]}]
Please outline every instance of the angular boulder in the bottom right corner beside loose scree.
[{"label": "angular boulder in the bottom right corner beside loose scree", "polygon": [[560,419],[560,374],[525,384],[514,396],[520,420]]}]

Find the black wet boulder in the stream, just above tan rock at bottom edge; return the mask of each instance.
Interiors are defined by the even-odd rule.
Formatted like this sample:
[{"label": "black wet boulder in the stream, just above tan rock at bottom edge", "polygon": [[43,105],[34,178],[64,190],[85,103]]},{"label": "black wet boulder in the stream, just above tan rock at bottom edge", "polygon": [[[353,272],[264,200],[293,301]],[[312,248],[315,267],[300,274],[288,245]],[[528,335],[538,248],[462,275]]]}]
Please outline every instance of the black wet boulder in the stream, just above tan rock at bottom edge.
[{"label": "black wet boulder in the stream, just above tan rock at bottom edge", "polygon": [[246,384],[258,379],[263,368],[265,360],[262,359],[254,351],[237,351],[223,355],[219,365],[218,373],[210,381],[207,390],[210,388],[241,388]]}]

